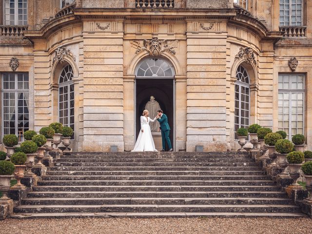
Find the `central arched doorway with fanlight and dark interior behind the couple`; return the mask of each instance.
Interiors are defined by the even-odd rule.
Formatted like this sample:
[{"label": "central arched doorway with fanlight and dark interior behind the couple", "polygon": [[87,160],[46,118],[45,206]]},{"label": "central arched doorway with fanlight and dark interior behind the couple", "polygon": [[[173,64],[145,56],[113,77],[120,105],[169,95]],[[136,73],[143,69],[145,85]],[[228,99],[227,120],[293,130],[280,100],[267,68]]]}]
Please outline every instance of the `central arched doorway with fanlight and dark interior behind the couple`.
[{"label": "central arched doorway with fanlight and dark interior behind the couple", "polygon": [[[162,58],[148,58],[141,61],[136,69],[136,127],[135,136],[140,131],[140,116],[142,115],[145,105],[153,96],[159,103],[160,108],[168,117],[171,128],[170,138],[175,148],[175,70],[173,66]],[[150,110],[149,110],[150,111]],[[155,114],[154,114],[155,115]],[[155,116],[150,117],[153,119]],[[156,149],[161,149],[161,134],[153,132]],[[168,149],[167,149],[168,150]]]}]

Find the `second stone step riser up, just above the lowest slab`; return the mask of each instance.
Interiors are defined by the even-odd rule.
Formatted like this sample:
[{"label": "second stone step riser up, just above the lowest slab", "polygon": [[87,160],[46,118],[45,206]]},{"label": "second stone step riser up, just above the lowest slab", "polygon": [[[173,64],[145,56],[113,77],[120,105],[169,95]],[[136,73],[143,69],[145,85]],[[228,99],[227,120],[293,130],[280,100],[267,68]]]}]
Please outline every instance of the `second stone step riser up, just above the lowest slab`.
[{"label": "second stone step riser up, just above the lowest slab", "polygon": [[40,207],[14,208],[15,213],[57,213],[57,212],[269,212],[269,213],[299,213],[299,207],[162,207],[162,206],[95,206],[95,207]]}]

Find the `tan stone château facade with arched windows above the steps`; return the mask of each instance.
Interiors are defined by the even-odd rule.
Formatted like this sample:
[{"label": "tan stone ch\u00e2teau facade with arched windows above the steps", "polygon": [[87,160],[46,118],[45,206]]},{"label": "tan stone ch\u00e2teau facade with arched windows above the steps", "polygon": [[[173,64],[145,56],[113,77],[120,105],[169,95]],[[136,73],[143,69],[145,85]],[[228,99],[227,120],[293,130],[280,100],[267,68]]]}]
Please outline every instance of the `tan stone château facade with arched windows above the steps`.
[{"label": "tan stone ch\u00e2teau facade with arched windows above the steps", "polygon": [[2,0],[1,138],[60,121],[75,151],[130,151],[153,95],[175,151],[252,123],[311,148],[312,2],[288,2]]}]

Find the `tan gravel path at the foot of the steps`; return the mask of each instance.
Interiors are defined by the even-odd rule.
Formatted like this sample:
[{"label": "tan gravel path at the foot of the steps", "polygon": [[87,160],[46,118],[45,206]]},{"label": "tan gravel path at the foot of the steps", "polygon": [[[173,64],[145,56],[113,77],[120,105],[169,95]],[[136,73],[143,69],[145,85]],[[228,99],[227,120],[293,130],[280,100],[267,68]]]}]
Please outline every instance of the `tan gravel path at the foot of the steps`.
[{"label": "tan gravel path at the foot of the steps", "polygon": [[312,234],[312,219],[6,219],[0,234]]}]

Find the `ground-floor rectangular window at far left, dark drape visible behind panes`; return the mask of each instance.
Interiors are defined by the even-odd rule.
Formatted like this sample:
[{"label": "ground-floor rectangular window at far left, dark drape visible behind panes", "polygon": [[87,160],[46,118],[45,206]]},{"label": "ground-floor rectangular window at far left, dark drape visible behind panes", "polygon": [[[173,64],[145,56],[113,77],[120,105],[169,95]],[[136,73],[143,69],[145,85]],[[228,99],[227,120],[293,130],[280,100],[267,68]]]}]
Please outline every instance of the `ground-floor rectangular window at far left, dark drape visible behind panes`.
[{"label": "ground-floor rectangular window at far left, dark drape visible behind panes", "polygon": [[3,134],[15,134],[22,141],[29,129],[28,74],[4,73],[2,80]]}]

